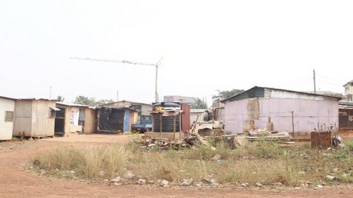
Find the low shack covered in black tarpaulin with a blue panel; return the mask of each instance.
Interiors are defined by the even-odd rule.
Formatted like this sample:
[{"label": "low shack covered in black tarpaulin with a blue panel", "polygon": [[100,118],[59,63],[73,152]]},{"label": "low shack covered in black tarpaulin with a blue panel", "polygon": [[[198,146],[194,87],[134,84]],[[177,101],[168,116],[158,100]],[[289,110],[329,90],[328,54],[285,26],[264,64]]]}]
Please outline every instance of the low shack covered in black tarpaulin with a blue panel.
[{"label": "low shack covered in black tarpaulin with a blue panel", "polygon": [[98,112],[98,133],[129,133],[137,111],[128,107],[101,107]]}]

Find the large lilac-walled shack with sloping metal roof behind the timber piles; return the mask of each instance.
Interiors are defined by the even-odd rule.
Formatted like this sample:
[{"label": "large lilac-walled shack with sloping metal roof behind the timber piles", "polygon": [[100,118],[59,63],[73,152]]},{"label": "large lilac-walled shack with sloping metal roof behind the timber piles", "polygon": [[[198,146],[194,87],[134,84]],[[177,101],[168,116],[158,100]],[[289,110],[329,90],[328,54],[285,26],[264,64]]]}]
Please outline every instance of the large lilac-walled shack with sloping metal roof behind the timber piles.
[{"label": "large lilac-walled shack with sloping metal roof behind the timber piles", "polygon": [[339,97],[268,87],[253,87],[226,98],[225,131],[266,128],[308,136],[317,123],[338,124]]}]

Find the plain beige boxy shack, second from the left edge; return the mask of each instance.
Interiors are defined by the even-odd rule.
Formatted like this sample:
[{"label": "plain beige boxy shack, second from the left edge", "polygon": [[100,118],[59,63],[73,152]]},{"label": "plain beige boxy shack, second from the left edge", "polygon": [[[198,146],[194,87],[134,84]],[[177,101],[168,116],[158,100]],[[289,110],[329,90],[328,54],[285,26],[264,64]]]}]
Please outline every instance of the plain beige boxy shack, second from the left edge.
[{"label": "plain beige boxy shack, second from the left edge", "polygon": [[47,137],[54,136],[56,100],[20,99],[16,101],[14,136]]}]

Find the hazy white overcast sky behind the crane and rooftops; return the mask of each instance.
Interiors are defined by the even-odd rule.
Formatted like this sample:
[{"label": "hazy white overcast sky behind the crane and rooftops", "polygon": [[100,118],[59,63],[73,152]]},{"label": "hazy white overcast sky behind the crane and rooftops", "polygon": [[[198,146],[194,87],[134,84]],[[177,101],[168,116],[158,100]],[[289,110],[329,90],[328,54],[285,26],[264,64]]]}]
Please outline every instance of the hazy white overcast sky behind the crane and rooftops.
[{"label": "hazy white overcast sky behind the crane and rooftops", "polygon": [[0,1],[0,95],[154,102],[265,86],[343,93],[352,1]]}]

